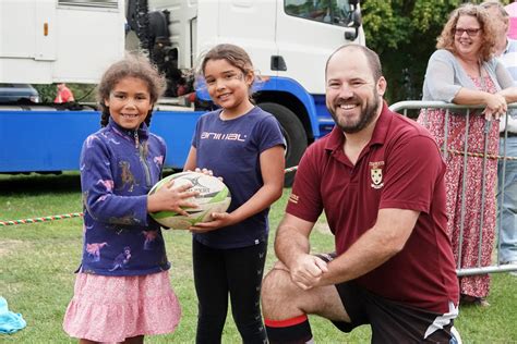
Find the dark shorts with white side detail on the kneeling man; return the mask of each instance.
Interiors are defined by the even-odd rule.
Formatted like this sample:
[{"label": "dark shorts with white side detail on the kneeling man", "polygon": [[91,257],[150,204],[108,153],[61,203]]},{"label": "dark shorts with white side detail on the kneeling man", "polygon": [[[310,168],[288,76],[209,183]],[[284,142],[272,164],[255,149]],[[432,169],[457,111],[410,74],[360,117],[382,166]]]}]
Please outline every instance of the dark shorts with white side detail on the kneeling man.
[{"label": "dark shorts with white side detail on the kneeling man", "polygon": [[[353,282],[336,285],[351,322],[333,321],[344,332],[372,327],[372,343],[449,343],[456,314],[437,314],[372,294]],[[436,327],[437,325],[437,327]],[[443,325],[443,328],[442,328]]]}]

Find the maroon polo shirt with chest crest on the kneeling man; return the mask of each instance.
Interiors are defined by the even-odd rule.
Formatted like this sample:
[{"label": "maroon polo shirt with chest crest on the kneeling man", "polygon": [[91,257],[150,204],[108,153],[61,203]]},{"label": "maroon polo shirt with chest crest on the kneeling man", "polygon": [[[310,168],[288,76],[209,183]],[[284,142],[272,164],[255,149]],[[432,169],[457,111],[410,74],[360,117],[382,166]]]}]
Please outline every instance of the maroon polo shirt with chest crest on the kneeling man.
[{"label": "maroon polo shirt with chest crest on the kneeling man", "polygon": [[[458,302],[458,282],[445,232],[445,163],[431,134],[386,103],[356,165],[336,126],[300,161],[287,212],[315,222],[322,210],[346,251],[371,229],[382,208],[420,211],[404,249],[357,279],[372,293],[441,314]],[[393,229],[396,231],[396,229]]]}]

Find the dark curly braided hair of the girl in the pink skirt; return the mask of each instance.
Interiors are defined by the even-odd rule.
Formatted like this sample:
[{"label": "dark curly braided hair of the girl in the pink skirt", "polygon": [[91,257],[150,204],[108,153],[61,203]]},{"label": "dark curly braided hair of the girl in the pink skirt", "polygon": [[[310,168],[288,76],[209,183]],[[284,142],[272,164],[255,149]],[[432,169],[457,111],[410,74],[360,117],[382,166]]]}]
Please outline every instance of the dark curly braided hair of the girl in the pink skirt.
[{"label": "dark curly braided hair of the girl in the pink skirt", "polygon": [[[147,84],[151,103],[155,105],[166,88],[166,79],[159,74],[156,66],[151,64],[149,60],[141,54],[128,54],[124,59],[111,64],[103,74],[100,83],[97,86],[97,101],[101,111],[100,125],[106,126],[109,122],[109,108],[105,100],[109,98],[111,90],[118,82],[124,77],[135,77]],[[151,124],[153,110],[149,110],[145,118],[145,124]]]}]

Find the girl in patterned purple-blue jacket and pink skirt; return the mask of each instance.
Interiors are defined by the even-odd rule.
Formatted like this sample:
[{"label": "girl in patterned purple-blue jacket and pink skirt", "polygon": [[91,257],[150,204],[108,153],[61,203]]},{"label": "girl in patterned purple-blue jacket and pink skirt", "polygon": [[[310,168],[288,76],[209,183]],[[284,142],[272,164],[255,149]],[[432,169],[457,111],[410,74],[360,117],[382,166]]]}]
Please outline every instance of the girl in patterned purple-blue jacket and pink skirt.
[{"label": "girl in patterned purple-blue jacket and pink skirt", "polygon": [[80,343],[143,343],[175,331],[180,305],[172,291],[160,226],[149,212],[193,207],[189,185],[152,196],[166,145],[148,131],[165,81],[148,60],[112,64],[98,86],[100,128],[83,144],[83,257],[64,331]]}]

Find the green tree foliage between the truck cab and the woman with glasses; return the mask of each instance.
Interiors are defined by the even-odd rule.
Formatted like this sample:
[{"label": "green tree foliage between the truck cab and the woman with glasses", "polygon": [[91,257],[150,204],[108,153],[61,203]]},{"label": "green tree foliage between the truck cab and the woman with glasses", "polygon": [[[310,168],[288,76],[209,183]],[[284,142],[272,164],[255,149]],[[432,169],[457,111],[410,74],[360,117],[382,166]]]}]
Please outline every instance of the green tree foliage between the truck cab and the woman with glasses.
[{"label": "green tree foliage between the truck cab and the woman with glasses", "polygon": [[462,2],[466,1],[361,1],[366,46],[378,53],[383,63],[389,103],[421,98],[428,60],[435,50],[436,38],[449,13]]}]

